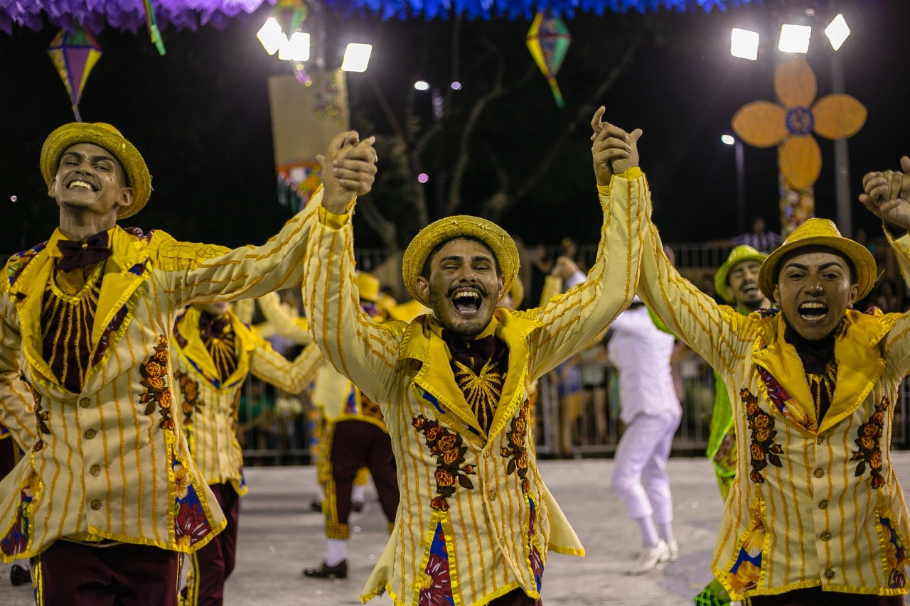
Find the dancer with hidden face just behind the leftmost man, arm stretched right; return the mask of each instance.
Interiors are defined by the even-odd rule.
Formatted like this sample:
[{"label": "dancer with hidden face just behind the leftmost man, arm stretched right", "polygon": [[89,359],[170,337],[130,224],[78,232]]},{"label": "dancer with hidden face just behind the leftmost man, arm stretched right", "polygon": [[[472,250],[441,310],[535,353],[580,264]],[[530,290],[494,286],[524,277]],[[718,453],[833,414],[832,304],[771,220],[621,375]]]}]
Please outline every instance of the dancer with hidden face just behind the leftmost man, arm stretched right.
[{"label": "dancer with hidden face just behind the leftmost man, arm stretched right", "polygon": [[186,606],[221,604],[225,581],[234,570],[240,497],[247,493],[237,438],[245,380],[252,374],[296,395],[319,362],[306,351],[293,362],[285,359],[231,307],[226,301],[191,305],[173,331],[177,414],[197,469],[227,519],[225,530],[189,555]]}]

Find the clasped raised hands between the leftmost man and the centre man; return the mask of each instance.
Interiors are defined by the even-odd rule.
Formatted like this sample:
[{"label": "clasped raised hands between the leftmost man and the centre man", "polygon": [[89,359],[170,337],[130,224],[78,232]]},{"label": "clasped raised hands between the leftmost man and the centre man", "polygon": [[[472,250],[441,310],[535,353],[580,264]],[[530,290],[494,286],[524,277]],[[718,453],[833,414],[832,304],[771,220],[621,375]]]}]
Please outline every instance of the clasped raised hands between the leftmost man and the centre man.
[{"label": "clasped raised hands between the leftmost man and the centre man", "polygon": [[357,131],[335,136],[325,156],[317,156],[322,165],[322,184],[325,192],[322,206],[340,215],[346,212],[351,199],[368,194],[376,178],[378,157],[373,149],[375,136],[360,140]]}]

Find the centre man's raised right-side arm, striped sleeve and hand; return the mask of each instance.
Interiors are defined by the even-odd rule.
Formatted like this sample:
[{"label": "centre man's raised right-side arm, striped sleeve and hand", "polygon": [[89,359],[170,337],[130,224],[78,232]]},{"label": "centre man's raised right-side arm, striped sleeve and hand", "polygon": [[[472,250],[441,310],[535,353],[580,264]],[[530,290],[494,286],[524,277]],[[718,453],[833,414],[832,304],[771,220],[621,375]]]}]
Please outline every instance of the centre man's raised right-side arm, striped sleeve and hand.
[{"label": "centre man's raised right-side arm, striped sleeve and hand", "polygon": [[[594,114],[600,124],[603,107]],[[584,282],[527,313],[542,327],[532,336],[531,379],[580,351],[632,302],[638,280],[642,197],[647,184],[631,144],[641,135],[607,125],[594,137],[591,154],[603,210],[597,259]],[[618,174],[611,163],[627,160]]]}]

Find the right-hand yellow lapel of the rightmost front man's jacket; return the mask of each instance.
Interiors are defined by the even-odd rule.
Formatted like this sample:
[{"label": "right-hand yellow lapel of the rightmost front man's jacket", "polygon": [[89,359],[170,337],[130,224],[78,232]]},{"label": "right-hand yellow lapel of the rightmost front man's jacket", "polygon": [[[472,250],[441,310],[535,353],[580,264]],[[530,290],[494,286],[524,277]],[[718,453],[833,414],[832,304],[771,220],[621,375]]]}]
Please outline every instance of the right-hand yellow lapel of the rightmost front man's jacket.
[{"label": "right-hand yellow lapel of the rightmost front man's jacket", "polygon": [[831,409],[824,415],[819,431],[834,427],[853,414],[875,387],[885,369],[879,342],[901,318],[900,314],[864,314],[848,309],[844,326],[834,341],[837,386]]}]

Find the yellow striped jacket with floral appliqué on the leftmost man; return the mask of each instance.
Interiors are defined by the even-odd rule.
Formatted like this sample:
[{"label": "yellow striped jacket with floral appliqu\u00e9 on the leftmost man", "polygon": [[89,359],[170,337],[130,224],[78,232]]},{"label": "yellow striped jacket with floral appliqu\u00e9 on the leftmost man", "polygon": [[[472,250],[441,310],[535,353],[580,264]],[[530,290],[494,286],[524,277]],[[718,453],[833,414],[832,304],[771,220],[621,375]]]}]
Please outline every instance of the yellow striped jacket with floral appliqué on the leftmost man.
[{"label": "yellow striped jacket with floral appliqu\u00e9 on the leftmost man", "polygon": [[[90,336],[94,364],[80,393],[60,386],[42,356],[42,298],[59,230],[10,258],[0,276],[0,422],[27,454],[0,482],[4,561],[61,537],[188,552],[224,527],[173,411],[171,328],[187,304],[296,284],[307,214],[263,246],[234,250],[114,228]],[[34,392],[19,378],[20,351]]]}]

